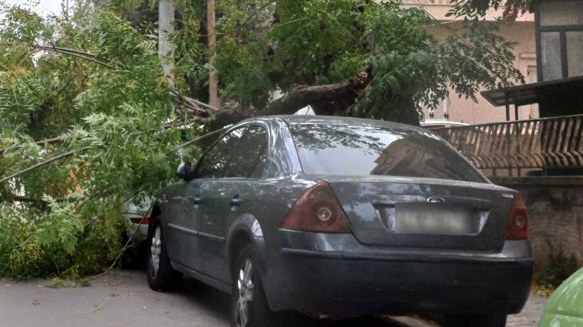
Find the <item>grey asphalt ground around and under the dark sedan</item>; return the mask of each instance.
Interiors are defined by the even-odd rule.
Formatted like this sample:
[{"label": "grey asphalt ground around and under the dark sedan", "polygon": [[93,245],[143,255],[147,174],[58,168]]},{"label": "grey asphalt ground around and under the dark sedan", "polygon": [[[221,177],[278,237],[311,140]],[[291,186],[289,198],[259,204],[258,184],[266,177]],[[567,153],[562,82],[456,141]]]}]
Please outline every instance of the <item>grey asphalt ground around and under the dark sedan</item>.
[{"label": "grey asphalt ground around and under the dark sedan", "polygon": [[[90,287],[51,289],[48,280],[0,280],[0,327],[62,326],[205,326],[227,327],[229,297],[186,279],[182,290],[157,293],[147,287],[142,271],[113,271]],[[523,314],[510,317],[511,327],[536,326],[545,298],[535,297]],[[423,327],[426,323],[387,318],[356,321],[314,321],[286,317],[295,326]]]}]

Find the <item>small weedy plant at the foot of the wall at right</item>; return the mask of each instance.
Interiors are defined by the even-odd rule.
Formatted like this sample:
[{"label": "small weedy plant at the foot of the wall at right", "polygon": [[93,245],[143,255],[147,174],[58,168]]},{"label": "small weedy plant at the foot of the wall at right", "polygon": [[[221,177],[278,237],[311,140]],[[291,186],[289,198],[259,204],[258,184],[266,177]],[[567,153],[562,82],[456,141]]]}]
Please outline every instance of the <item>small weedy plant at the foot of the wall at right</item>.
[{"label": "small weedy plant at the foot of the wall at right", "polygon": [[563,246],[554,246],[547,243],[549,248],[549,258],[545,264],[538,267],[535,272],[534,281],[538,285],[559,287],[569,276],[578,269],[577,258],[573,253],[565,253]]}]

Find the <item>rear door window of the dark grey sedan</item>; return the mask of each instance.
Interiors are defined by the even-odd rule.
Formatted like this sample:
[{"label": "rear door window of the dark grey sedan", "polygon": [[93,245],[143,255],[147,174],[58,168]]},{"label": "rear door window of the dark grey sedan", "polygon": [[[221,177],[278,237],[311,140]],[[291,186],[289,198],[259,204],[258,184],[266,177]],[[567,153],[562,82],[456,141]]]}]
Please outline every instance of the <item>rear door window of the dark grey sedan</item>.
[{"label": "rear door window of the dark grey sedan", "polygon": [[267,157],[267,131],[262,126],[250,126],[229,159],[224,177],[259,178]]}]

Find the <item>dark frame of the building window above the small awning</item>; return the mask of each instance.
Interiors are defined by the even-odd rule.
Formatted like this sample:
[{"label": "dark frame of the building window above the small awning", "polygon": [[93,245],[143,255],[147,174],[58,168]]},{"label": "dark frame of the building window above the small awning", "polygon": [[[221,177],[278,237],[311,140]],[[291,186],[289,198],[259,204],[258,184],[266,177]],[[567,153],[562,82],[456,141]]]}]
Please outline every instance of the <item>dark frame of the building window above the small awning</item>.
[{"label": "dark frame of the building window above the small awning", "polygon": [[[580,0],[552,0],[545,2],[583,2]],[[543,76],[543,63],[542,63],[542,44],[540,43],[540,34],[545,32],[559,32],[559,40],[561,44],[561,78],[567,79],[569,77],[568,72],[568,57],[567,57],[567,36],[566,33],[569,31],[583,31],[583,24],[580,25],[550,25],[541,26],[540,25],[540,2],[533,3],[535,6],[535,42],[536,42],[536,75],[539,82],[551,81],[547,80]],[[583,76],[583,75],[582,75]],[[574,76],[571,76],[574,77]]]}]

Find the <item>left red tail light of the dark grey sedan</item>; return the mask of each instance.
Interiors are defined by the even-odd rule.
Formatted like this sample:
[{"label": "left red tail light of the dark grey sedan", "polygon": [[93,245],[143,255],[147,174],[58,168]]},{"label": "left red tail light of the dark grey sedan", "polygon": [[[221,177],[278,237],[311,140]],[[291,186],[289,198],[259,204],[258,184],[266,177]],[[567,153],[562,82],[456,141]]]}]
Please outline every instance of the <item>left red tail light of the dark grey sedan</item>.
[{"label": "left red tail light of the dark grey sedan", "polygon": [[280,225],[303,232],[351,233],[348,219],[328,183],[310,187],[296,201]]}]

